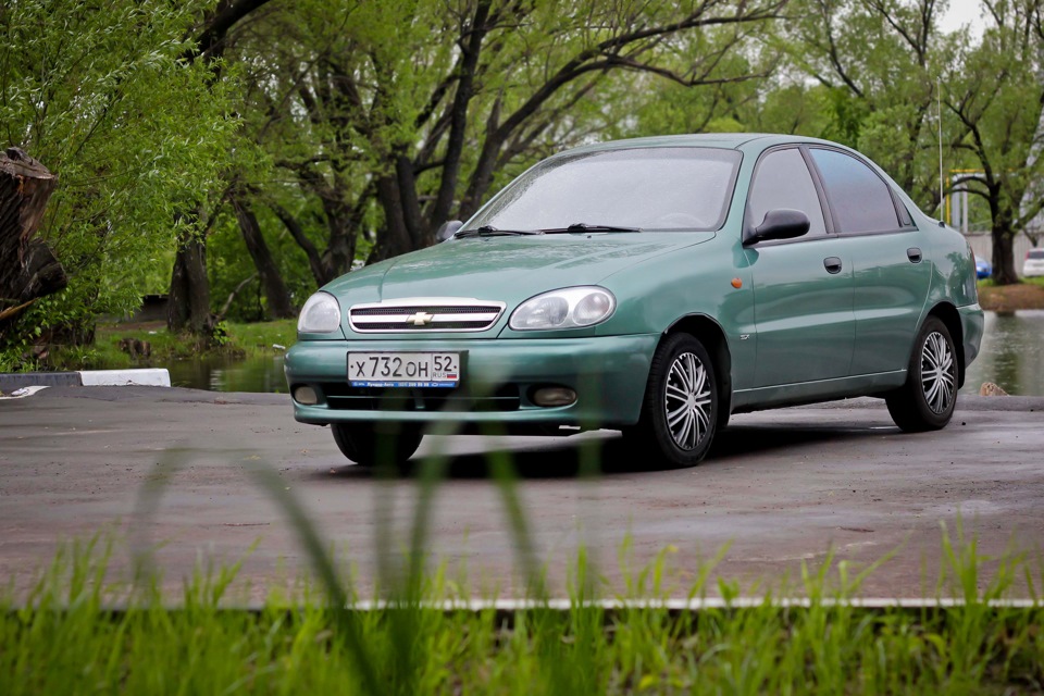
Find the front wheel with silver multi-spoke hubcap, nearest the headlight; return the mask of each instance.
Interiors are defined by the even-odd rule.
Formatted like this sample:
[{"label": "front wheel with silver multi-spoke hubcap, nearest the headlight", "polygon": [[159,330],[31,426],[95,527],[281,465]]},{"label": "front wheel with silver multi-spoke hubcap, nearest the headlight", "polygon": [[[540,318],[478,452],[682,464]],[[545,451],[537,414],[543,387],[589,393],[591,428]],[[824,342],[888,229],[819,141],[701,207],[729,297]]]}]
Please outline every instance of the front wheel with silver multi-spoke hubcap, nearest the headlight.
[{"label": "front wheel with silver multi-spoke hubcap, nearest the headlight", "polygon": [[672,468],[707,456],[718,425],[718,378],[704,345],[688,334],[668,336],[649,369],[638,424],[624,437]]}]

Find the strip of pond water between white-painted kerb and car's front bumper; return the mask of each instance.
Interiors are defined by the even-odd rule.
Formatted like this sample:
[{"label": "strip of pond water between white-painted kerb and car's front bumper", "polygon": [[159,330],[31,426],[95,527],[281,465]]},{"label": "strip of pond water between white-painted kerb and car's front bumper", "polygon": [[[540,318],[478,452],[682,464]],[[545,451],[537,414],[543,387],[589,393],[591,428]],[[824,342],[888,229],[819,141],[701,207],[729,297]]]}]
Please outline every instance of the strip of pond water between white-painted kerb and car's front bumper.
[{"label": "strip of pond water between white-painted kerb and car's front bumper", "polygon": [[171,385],[210,391],[268,391],[286,394],[283,356],[262,356],[247,360],[209,357],[177,360],[165,365]]}]

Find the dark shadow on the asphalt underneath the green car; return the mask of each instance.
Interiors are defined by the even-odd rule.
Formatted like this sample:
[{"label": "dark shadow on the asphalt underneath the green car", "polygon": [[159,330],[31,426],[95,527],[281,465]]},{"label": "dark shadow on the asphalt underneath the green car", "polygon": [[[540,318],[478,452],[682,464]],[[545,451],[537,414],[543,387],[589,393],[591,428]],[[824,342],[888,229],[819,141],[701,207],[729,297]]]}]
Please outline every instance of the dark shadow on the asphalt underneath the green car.
[{"label": "dark shadow on the asphalt underneath the green car", "polygon": [[[895,430],[897,434],[898,428]],[[795,447],[825,445],[832,442],[853,442],[885,434],[880,428],[829,427],[813,425],[732,425],[719,433],[714,444],[700,464],[700,469],[718,464],[734,463],[736,458],[751,455],[780,452]],[[660,464],[651,456],[635,453],[624,445],[620,435],[576,440],[562,438],[552,445],[540,444],[535,449],[490,448],[484,452],[451,455],[446,478],[485,480],[493,478],[493,463],[505,458],[513,467],[514,476],[523,480],[575,478],[582,475],[613,476],[631,473],[672,471]],[[585,462],[600,462],[597,471],[585,468]],[[369,469],[357,464],[336,467],[327,472],[316,473],[315,477],[326,481],[331,476],[343,480],[394,477],[419,478],[420,468],[425,465],[425,457],[410,460],[401,471]],[[589,467],[589,464],[588,464]]]}]

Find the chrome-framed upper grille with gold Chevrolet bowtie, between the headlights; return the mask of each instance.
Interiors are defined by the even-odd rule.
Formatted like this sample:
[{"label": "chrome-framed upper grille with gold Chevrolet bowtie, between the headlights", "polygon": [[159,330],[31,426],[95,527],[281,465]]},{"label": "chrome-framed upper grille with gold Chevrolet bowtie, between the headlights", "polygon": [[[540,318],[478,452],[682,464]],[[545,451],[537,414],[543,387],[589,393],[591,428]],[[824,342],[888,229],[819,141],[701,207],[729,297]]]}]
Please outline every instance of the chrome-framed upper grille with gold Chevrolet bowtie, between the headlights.
[{"label": "chrome-framed upper grille with gold Chevrolet bowtie, between the headlights", "polygon": [[504,313],[504,302],[469,298],[419,298],[356,304],[348,323],[358,333],[485,331]]}]

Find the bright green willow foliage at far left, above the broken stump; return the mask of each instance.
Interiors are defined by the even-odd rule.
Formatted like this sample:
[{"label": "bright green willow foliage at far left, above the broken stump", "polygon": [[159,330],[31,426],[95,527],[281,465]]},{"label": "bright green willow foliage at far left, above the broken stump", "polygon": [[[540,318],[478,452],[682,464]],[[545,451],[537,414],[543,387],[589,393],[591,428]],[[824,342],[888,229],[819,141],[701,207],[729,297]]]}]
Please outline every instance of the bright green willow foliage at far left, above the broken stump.
[{"label": "bright green willow foliage at far left, above the broken stump", "polygon": [[177,213],[221,192],[227,76],[183,57],[212,1],[18,0],[0,9],[0,139],[59,177],[39,236],[70,275],[4,336],[135,308],[170,275]]}]

